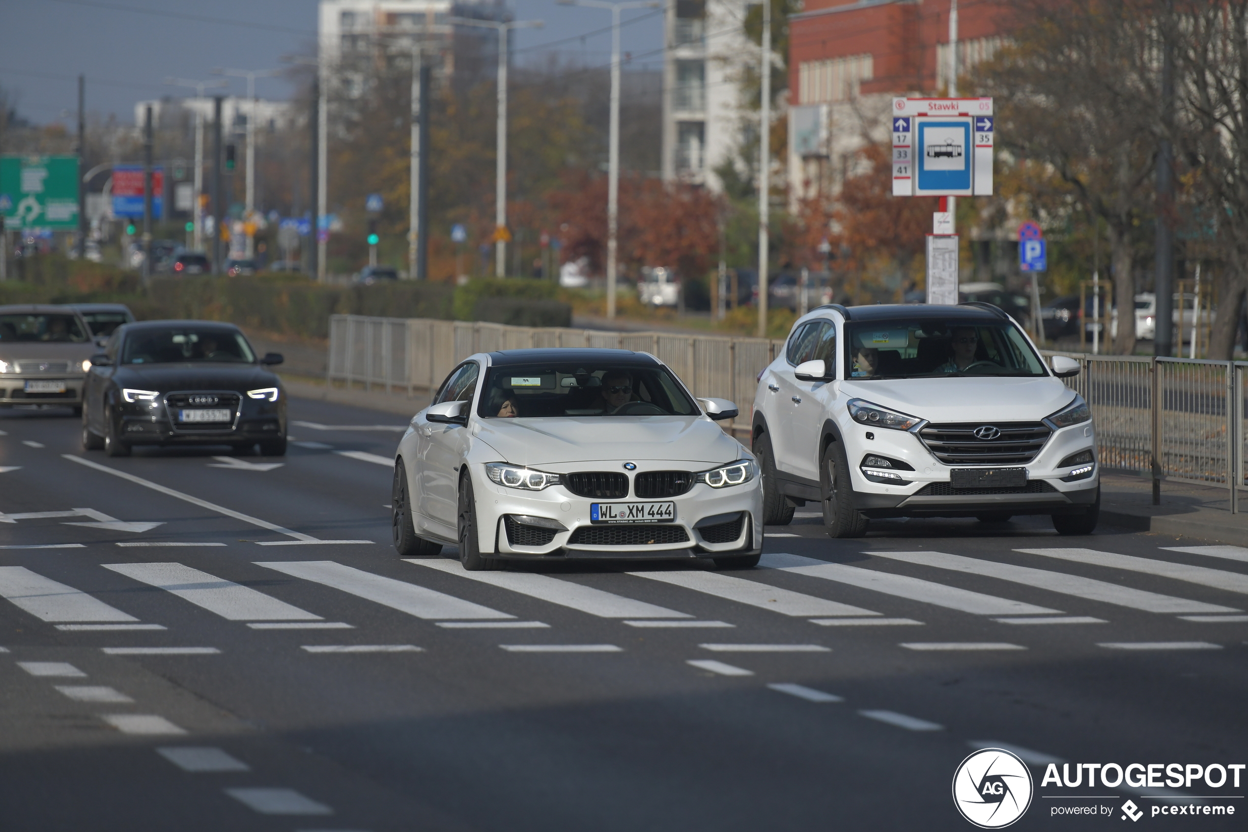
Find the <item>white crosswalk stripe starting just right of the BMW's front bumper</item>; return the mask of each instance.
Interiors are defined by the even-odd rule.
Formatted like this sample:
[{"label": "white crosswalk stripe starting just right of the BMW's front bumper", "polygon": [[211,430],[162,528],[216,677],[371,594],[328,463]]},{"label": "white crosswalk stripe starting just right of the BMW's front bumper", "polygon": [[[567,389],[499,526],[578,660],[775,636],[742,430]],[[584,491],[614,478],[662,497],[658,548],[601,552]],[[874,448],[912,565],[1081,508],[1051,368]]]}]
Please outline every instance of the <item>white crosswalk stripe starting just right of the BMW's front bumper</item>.
[{"label": "white crosswalk stripe starting just right of the BMW's front bumper", "polygon": [[763,566],[780,569],[796,575],[839,581],[850,586],[869,589],[884,593],[885,595],[895,595],[921,604],[932,604],[950,610],[970,612],[971,615],[1043,615],[1045,612],[1061,611],[1051,610],[1047,606],[1011,601],[1005,597],[910,578],[909,575],[894,575],[891,573],[875,571],[874,569],[829,564],[814,558],[799,558],[787,553],[763,555]]}]

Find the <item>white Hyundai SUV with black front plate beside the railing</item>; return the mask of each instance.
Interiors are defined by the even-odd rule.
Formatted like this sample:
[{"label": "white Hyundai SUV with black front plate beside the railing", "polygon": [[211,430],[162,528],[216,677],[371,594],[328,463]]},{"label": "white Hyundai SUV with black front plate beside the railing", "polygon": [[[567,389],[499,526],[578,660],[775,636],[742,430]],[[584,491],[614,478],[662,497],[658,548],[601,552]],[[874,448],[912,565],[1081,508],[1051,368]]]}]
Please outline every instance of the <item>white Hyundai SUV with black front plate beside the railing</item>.
[{"label": "white Hyundai SUV with black front plate beside the railing", "polygon": [[820,307],[759,375],[753,449],[766,525],[820,503],[834,538],[872,518],[1048,514],[1091,534],[1101,508],[1087,403],[987,303]]}]

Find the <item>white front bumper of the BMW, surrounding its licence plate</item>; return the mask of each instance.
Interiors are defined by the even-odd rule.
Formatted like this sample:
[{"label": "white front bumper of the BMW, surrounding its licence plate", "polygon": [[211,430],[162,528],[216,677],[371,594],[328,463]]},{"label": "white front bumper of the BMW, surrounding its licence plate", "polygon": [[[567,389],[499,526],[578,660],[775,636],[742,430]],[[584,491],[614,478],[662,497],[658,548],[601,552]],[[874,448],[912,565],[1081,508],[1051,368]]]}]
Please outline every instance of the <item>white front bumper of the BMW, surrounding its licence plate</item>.
[{"label": "white front bumper of the BMW, surrounding its licence plate", "polygon": [[[544,465],[542,470],[603,469],[612,464]],[[615,468],[619,467],[617,463]],[[670,470],[670,462],[638,462],[638,472]],[[713,468],[693,465],[693,470]],[[569,472],[560,472],[568,468]],[[477,526],[483,553],[508,559],[669,559],[754,554],[763,550],[761,478],[714,489],[695,484],[671,498],[618,500],[573,494],[567,485],[525,491],[498,485],[472,465]],[[605,525],[590,521],[593,503],[674,503],[670,523]]]}]

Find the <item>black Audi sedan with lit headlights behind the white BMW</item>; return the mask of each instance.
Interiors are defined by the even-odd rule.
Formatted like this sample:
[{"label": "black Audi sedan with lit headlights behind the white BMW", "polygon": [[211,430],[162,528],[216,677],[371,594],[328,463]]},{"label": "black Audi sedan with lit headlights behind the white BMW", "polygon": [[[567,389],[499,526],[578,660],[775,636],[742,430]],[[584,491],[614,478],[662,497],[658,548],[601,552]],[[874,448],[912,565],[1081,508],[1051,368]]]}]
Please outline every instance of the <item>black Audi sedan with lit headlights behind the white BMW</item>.
[{"label": "black Audi sedan with lit headlights behind the white BMW", "polygon": [[91,358],[82,447],[125,457],[135,445],[231,445],[286,453],[286,394],[238,327],[145,321],[119,327]]}]

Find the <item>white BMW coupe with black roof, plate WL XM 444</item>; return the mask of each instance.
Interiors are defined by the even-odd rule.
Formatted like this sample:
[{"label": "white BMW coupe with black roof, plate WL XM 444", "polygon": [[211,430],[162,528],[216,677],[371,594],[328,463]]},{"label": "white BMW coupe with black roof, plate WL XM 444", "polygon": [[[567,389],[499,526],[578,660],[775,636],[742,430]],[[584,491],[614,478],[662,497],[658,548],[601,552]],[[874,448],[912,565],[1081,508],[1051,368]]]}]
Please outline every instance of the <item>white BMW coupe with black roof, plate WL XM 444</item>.
[{"label": "white BMW coupe with black roof, plate WL XM 444", "polygon": [[759,563],[754,455],[663,362],[624,349],[470,356],[412,418],[394,458],[394,548],[503,560]]}]

